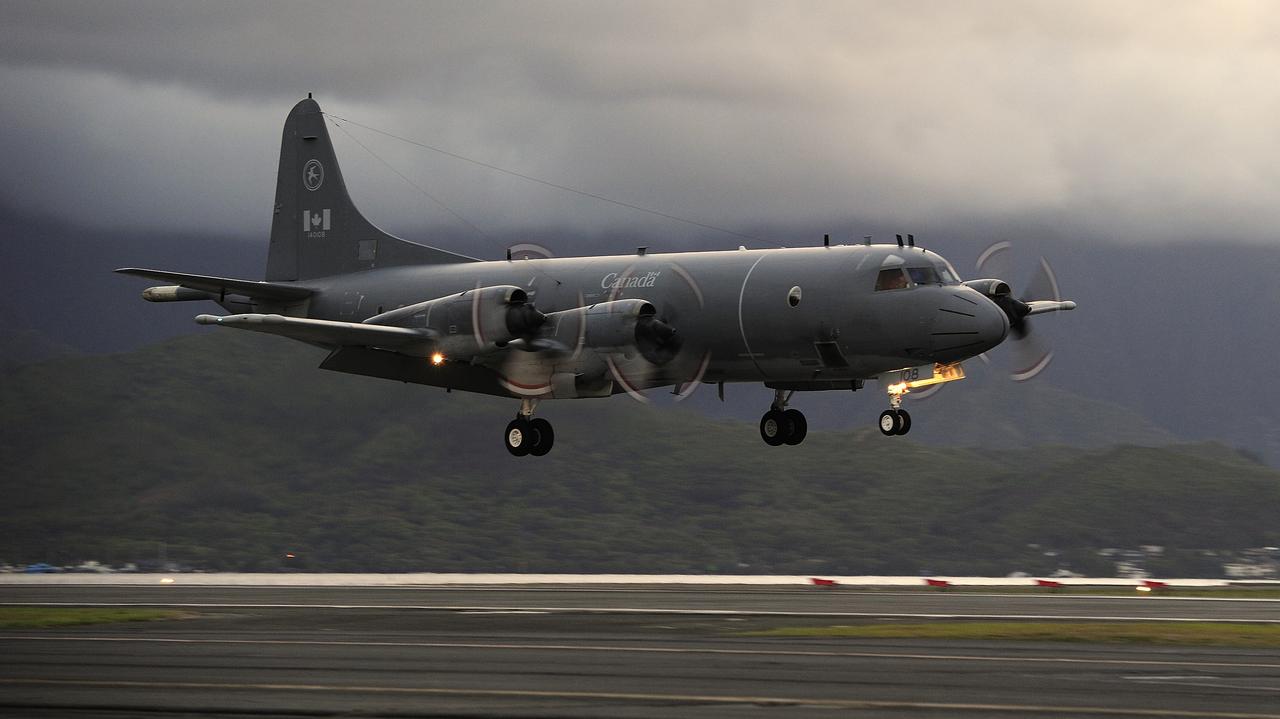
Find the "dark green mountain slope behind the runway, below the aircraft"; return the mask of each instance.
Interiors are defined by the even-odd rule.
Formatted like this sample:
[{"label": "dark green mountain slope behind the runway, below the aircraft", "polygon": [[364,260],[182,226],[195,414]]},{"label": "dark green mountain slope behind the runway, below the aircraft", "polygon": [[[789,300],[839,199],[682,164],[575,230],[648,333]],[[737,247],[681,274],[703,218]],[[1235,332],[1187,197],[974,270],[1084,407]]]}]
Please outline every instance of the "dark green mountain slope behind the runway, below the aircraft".
[{"label": "dark green mountain slope behind the runway, below the aircraft", "polygon": [[556,449],[517,459],[512,400],[321,357],[215,331],[13,370],[0,560],[165,542],[216,569],[1002,574],[1087,571],[1100,546],[1280,544],[1280,472],[1215,444],[978,450],[864,429],[769,448],[753,425],[613,398],[545,403]]}]

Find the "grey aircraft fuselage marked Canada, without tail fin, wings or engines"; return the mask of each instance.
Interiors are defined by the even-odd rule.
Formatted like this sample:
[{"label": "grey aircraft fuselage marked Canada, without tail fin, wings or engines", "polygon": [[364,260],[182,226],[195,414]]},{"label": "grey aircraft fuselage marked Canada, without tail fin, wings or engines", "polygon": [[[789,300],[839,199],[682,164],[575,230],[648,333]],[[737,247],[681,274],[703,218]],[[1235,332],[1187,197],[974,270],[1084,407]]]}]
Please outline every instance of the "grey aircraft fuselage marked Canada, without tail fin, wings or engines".
[{"label": "grey aircraft fuselage marked Canada, without tail fin, wings or engines", "polygon": [[[524,288],[529,302],[545,313],[616,299],[648,301],[680,333],[680,353],[660,367],[648,363],[628,371],[626,360],[618,361],[613,374],[621,374],[614,377],[621,381],[604,394],[625,391],[623,385],[643,389],[699,380],[764,381],[792,389],[849,386],[904,366],[965,360],[1005,338],[1007,319],[983,294],[957,283],[909,281],[877,290],[877,276],[886,267],[950,269],[933,252],[896,246],[387,267],[308,280],[317,292],[306,316],[360,322],[422,299],[493,285]],[[552,357],[506,349],[472,360],[467,368],[413,371],[408,381],[517,397],[556,395],[552,375],[577,376],[580,384],[586,377],[590,385],[593,377],[605,380],[608,370],[607,358],[594,352]]]}]

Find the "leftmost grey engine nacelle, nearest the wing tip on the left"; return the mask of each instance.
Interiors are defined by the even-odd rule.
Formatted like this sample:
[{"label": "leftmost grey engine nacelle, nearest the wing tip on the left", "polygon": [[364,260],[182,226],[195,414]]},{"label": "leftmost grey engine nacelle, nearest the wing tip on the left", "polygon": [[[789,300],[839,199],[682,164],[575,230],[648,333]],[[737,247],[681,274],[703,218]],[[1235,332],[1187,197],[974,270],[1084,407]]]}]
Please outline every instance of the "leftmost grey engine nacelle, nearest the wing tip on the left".
[{"label": "leftmost grey engine nacelle, nearest the wing tip on the left", "polygon": [[474,357],[538,331],[547,316],[527,302],[518,287],[481,287],[383,312],[365,324],[426,330],[445,357]]}]

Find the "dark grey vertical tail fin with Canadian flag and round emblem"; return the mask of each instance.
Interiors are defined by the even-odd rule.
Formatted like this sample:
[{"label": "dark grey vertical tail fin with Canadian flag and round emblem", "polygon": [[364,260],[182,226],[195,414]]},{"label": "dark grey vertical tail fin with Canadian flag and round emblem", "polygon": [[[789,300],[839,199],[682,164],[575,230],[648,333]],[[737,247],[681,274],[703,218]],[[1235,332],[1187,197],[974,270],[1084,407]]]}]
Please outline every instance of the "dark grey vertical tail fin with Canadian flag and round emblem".
[{"label": "dark grey vertical tail fin with Canadian flag and round emblem", "polygon": [[392,237],[352,205],[320,105],[293,106],[280,139],[269,281],[305,280],[372,267],[472,262],[471,257]]}]

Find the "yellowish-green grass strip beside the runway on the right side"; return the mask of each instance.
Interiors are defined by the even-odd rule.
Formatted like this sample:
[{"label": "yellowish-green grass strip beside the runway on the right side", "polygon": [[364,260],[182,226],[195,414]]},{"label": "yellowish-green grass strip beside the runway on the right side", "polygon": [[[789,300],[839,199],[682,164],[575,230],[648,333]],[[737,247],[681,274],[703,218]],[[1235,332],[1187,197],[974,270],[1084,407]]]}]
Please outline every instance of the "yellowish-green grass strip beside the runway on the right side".
[{"label": "yellowish-green grass strip beside the runway on the right side", "polygon": [[1280,649],[1280,626],[1217,622],[927,622],[776,627],[739,636],[1000,640]]}]

